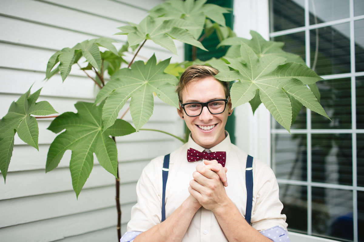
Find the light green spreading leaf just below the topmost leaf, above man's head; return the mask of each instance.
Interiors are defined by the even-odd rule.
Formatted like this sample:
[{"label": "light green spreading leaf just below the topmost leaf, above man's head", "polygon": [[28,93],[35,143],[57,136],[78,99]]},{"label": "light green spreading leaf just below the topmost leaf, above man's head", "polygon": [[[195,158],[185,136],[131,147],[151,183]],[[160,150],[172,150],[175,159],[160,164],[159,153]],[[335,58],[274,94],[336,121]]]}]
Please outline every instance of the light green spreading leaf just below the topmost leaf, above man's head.
[{"label": "light green spreading leaf just below the topmost leaf, above man's head", "polygon": [[[127,34],[128,44],[134,46],[140,44],[146,39],[152,40],[155,44],[166,48],[170,52],[177,54],[176,46],[173,39],[179,40],[186,44],[197,46],[206,50],[201,42],[197,41],[187,29],[199,29],[198,26],[189,25],[185,20],[173,20],[166,17],[152,18],[145,17],[140,24],[132,24],[132,26],[119,27],[122,32],[117,34]],[[207,50],[206,50],[207,51]]]}]

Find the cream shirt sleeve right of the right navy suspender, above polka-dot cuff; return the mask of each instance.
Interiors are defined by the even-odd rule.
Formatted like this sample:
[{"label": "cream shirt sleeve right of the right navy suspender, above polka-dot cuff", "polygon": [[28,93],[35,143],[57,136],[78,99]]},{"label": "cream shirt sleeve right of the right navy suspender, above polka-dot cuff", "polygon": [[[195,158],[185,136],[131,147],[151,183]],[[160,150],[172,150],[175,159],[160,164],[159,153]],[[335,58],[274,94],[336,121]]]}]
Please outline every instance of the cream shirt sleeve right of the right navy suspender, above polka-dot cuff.
[{"label": "cream shirt sleeve right of the right navy suspender, above polka-dot cuff", "polygon": [[[257,169],[257,165],[260,165],[259,169]],[[280,226],[286,230],[286,216],[281,214],[283,204],[279,200],[278,182],[272,169],[258,161],[253,177],[252,227],[258,231],[274,226]]]}]

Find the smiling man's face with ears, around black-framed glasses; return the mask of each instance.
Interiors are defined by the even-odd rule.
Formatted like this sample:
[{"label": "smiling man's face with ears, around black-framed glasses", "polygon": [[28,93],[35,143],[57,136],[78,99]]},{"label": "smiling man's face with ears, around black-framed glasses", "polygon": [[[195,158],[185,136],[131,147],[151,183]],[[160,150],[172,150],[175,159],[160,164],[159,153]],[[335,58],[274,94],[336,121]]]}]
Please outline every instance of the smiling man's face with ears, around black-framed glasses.
[{"label": "smiling man's face with ears, around black-framed glasses", "polygon": [[[208,102],[215,99],[226,99],[224,88],[213,77],[206,77],[198,81],[192,81],[182,90],[182,103]],[[226,105],[221,114],[211,114],[207,107],[203,107],[199,116],[190,117],[185,114],[182,107],[178,110],[179,116],[185,119],[186,125],[191,131],[192,139],[206,149],[214,147],[225,139],[225,124],[227,116],[231,114],[231,101]]]}]

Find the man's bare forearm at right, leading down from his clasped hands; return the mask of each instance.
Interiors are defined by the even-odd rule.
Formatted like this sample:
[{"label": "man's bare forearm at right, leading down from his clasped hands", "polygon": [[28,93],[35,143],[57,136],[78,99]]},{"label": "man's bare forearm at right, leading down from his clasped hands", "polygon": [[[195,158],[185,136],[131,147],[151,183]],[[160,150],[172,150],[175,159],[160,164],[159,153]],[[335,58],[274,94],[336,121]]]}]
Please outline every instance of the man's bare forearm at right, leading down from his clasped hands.
[{"label": "man's bare forearm at right, leading down from his clasped hands", "polygon": [[245,221],[230,199],[213,213],[229,242],[272,242]]}]

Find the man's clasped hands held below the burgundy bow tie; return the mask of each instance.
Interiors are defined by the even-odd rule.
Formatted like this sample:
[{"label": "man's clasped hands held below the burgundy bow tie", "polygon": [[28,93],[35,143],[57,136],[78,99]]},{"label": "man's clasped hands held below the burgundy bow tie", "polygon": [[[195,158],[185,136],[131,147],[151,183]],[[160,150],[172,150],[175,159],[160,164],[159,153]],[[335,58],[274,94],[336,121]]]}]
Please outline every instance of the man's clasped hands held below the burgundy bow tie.
[{"label": "man's clasped hands held below the burgundy bow tie", "polygon": [[216,160],[203,160],[203,164],[198,164],[193,172],[193,180],[188,188],[191,197],[194,198],[194,206],[215,211],[226,201],[227,195],[227,169],[217,163]]}]

